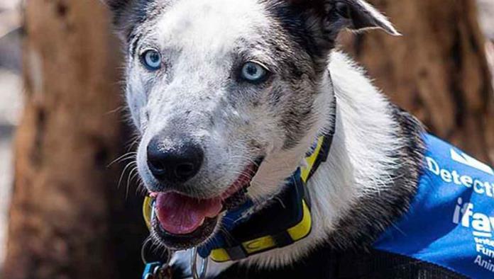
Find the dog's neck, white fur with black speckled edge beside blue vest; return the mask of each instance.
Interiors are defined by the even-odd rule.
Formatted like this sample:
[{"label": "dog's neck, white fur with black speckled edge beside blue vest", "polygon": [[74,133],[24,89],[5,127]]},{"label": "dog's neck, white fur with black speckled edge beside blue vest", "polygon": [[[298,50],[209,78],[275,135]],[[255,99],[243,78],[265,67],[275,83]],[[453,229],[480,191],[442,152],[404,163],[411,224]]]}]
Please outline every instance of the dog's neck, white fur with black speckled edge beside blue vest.
[{"label": "dog's neck, white fur with black speckled edge beside blue vest", "polygon": [[[307,185],[312,198],[312,232],[291,246],[251,256],[241,264],[275,268],[324,244],[331,249],[370,246],[407,210],[415,193],[422,164],[422,127],[395,108],[340,52],[331,55],[329,72],[331,80],[327,82],[332,86],[327,87],[334,88],[337,100],[336,125],[329,157]],[[334,111],[327,111],[333,92],[320,95],[317,101],[326,110],[320,113],[322,124],[315,133],[333,126],[330,116]],[[212,263],[210,274],[231,264]]]}]

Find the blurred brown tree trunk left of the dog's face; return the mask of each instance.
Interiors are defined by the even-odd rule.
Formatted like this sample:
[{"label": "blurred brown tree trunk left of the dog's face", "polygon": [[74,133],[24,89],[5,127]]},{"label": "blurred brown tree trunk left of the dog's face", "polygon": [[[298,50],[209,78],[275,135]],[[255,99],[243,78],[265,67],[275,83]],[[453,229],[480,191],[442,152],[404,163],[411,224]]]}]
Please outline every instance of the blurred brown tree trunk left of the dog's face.
[{"label": "blurred brown tree trunk left of the dog's face", "polygon": [[107,168],[126,141],[110,17],[98,1],[26,2],[4,278],[138,278],[141,201]]}]

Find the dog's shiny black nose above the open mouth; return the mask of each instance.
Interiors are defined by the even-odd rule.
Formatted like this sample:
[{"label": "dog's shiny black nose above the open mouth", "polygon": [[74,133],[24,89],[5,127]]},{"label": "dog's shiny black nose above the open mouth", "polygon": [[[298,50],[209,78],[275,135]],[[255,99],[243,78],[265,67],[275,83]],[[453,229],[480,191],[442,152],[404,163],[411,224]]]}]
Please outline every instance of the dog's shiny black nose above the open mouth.
[{"label": "dog's shiny black nose above the open mouth", "polygon": [[154,137],[148,144],[148,166],[158,181],[184,183],[201,169],[204,152],[192,142],[177,142],[163,147],[163,138]]}]

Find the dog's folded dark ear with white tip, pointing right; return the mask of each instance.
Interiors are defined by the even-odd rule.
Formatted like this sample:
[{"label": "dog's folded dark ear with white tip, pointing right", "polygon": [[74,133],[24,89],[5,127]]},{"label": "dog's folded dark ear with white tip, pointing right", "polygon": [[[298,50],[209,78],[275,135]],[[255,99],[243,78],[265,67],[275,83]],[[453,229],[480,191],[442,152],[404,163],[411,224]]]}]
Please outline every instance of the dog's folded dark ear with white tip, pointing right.
[{"label": "dog's folded dark ear with white tip, pointing right", "polygon": [[382,13],[363,0],[285,1],[319,18],[325,33],[338,33],[341,28],[355,31],[379,28],[391,35],[400,35]]}]

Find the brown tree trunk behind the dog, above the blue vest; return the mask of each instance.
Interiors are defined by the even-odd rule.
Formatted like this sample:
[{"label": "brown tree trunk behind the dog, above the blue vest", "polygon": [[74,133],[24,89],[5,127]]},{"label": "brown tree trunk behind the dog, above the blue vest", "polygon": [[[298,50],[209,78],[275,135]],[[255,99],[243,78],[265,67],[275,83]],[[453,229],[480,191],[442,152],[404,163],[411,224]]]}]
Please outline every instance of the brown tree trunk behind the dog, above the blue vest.
[{"label": "brown tree trunk behind the dog, above the blue vest", "polygon": [[469,154],[494,162],[494,102],[474,0],[370,0],[401,37],[344,35],[345,49],[395,103]]}]

